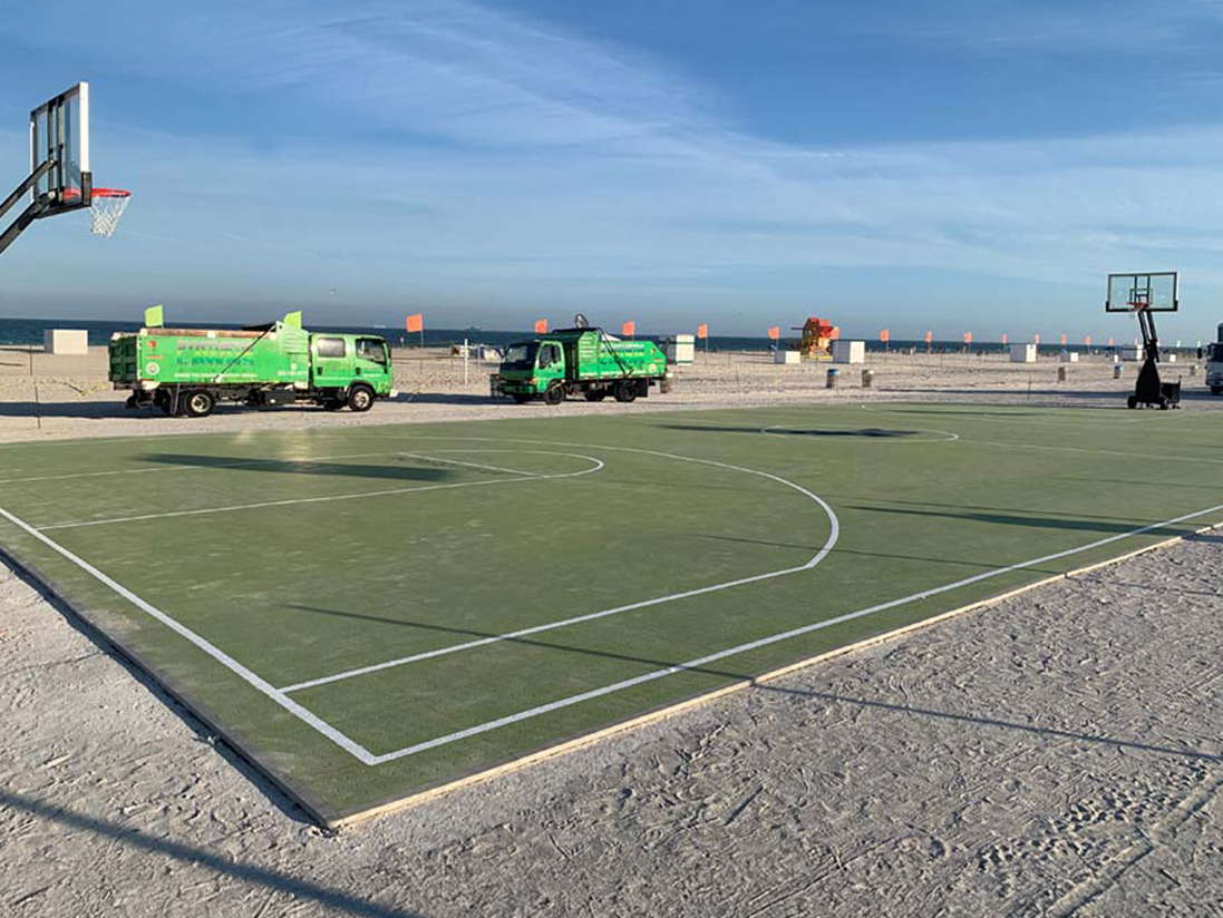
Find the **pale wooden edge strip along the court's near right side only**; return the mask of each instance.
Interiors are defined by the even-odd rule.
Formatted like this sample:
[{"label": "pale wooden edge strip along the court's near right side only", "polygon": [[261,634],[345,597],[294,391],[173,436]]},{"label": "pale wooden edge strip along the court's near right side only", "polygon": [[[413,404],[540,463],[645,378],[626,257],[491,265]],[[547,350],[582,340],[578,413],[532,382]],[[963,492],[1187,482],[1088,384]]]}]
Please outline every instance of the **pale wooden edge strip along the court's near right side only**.
[{"label": "pale wooden edge strip along the court's near right side only", "polygon": [[972,603],[969,603],[967,605],[961,605],[955,609],[950,609],[945,612],[939,612],[938,615],[933,615],[928,619],[922,619],[921,621],[910,622],[909,625],[903,625],[899,628],[893,628],[892,631],[884,631],[881,632],[879,634],[872,634],[871,637],[863,638],[862,641],[857,641],[852,644],[845,644],[844,647],[833,648],[832,650],[826,650],[821,654],[816,654],[815,656],[807,656],[801,660],[796,660],[794,663],[788,663],[784,666],[769,670],[768,672],[763,672],[759,676],[739,680],[737,682],[731,682],[730,685],[723,686],[722,688],[715,688],[712,692],[703,692],[701,694],[692,696],[691,698],[685,698],[680,702],[675,702],[674,704],[668,704],[663,708],[657,708],[654,710],[646,711],[645,714],[638,714],[637,716],[630,718],[629,720],[621,720],[616,724],[602,727],[600,730],[596,730],[589,733],[583,733],[582,736],[577,736],[571,740],[564,740],[559,743],[544,747],[542,749],[537,749],[536,752],[527,753],[526,755],[521,755],[516,759],[503,762],[499,765],[492,765],[479,771],[475,771],[470,775],[464,775],[462,777],[457,777],[453,781],[446,781],[440,785],[434,785],[433,787],[426,787],[424,790],[410,793],[406,797],[386,799],[382,803],[375,803],[372,807],[367,807],[366,809],[345,812],[340,814],[338,818],[328,821],[325,824],[325,828],[331,830],[339,830],[347,828],[350,825],[363,823],[367,819],[388,815],[391,813],[396,813],[401,809],[407,809],[410,807],[416,807],[423,803],[428,803],[429,801],[437,799],[438,797],[446,796],[455,791],[461,791],[476,784],[492,781],[497,777],[500,777],[501,775],[511,774],[514,771],[517,771],[519,769],[528,768],[531,765],[542,763],[553,757],[564,755],[570,752],[577,752],[581,748],[585,748],[587,746],[593,746],[594,743],[602,742],[603,740],[608,740],[618,733],[627,732],[630,730],[636,730],[637,727],[646,726],[647,724],[652,724],[657,720],[663,720],[665,718],[676,714],[682,714],[690,708],[696,708],[708,702],[713,702],[718,698],[731,694],[733,692],[739,692],[745,688],[752,688],[753,686],[763,685],[766,682],[772,682],[774,680],[788,676],[797,670],[806,669],[807,666],[813,666],[818,663],[830,660],[835,656],[855,653],[857,650],[863,650],[868,647],[873,647],[874,644],[882,644],[887,641],[893,641],[895,638],[909,634],[910,632],[917,631],[918,628],[925,628],[931,625],[937,625],[938,622],[947,621],[948,619],[954,619],[956,616],[976,611],[978,609],[986,609],[997,603],[1002,603],[1007,599],[1011,599],[1014,597],[1022,595],[1024,593],[1029,593],[1033,589],[1038,589],[1040,587],[1046,587],[1051,583],[1057,583],[1058,581],[1070,579],[1071,577],[1077,577],[1080,575],[1088,573],[1091,571],[1096,571],[1102,567],[1109,567],[1112,565],[1128,561],[1131,557],[1137,557],[1139,555],[1146,555],[1151,551],[1159,551],[1162,549],[1170,548],[1172,545],[1184,542],[1186,538],[1202,535],[1203,533],[1208,533],[1221,527],[1223,527],[1223,520],[1210,523],[1207,526],[1202,526],[1197,529],[1194,529],[1192,532],[1185,533],[1184,535],[1173,535],[1172,538],[1163,539],[1162,542],[1156,542],[1151,545],[1144,545],[1142,548],[1135,549],[1132,551],[1126,551],[1125,554],[1117,555],[1115,557],[1109,557],[1103,561],[1096,561],[1090,565],[1084,565],[1082,567],[1075,567],[1074,570],[1064,571],[1063,573],[1055,573],[1049,577],[1043,577],[1038,581],[1026,583],[1021,587],[1016,587],[1014,589],[1009,589],[1003,593],[987,597],[985,599],[975,600]]}]

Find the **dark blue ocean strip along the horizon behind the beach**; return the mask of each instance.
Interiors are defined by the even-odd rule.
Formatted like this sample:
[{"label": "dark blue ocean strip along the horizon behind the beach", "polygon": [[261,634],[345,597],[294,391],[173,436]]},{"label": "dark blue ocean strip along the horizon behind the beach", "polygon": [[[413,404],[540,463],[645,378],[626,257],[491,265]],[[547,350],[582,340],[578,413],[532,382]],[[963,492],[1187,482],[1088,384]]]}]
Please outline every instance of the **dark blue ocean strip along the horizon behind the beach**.
[{"label": "dark blue ocean strip along the horizon behind the beach", "polygon": [[[208,321],[176,321],[176,325],[181,328],[196,328],[196,329],[223,329],[234,328],[232,324],[218,324]],[[43,343],[43,331],[45,329],[86,329],[89,332],[91,345],[105,345],[110,336],[116,331],[137,331],[141,328],[138,321],[122,321],[119,319],[5,319],[0,318],[0,345],[18,345],[18,346],[42,346]],[[379,325],[311,325],[311,331],[344,331],[351,334],[369,334],[380,335],[385,337],[391,345],[395,346],[407,346],[415,347],[421,343],[421,335],[418,332],[405,332],[401,329],[390,329]],[[427,347],[446,347],[455,343],[461,343],[464,339],[467,339],[471,343],[483,343],[492,345],[493,347],[501,347],[510,343],[511,341],[520,341],[525,337],[532,337],[534,335],[530,328],[523,328],[519,330],[489,330],[489,329],[426,329],[424,330],[424,345]],[[640,339],[649,339],[652,341],[658,341],[660,336],[658,335],[638,335]],[[791,339],[783,339],[781,343],[785,345]],[[794,339],[796,341],[796,339]],[[725,352],[725,351],[769,351],[775,342],[770,341],[768,337],[751,337],[740,335],[711,335],[708,342],[697,341],[697,350],[708,350],[711,352]],[[1128,345],[1128,340],[1120,340],[1118,346]],[[925,341],[909,341],[909,340],[892,340],[887,345],[882,341],[867,341],[866,350],[872,353],[879,353],[883,351],[909,351],[910,348],[916,350],[918,353],[925,353],[927,347],[933,353],[1000,353],[1004,347],[999,341],[974,341],[971,345],[964,345],[963,341],[934,341],[931,345],[926,345]],[[1041,343],[1040,352],[1046,354],[1054,354],[1060,351],[1076,351],[1079,353],[1086,352],[1099,352],[1108,353],[1110,348],[1097,346],[1087,348],[1082,345],[1066,345],[1063,347],[1059,343]]]}]

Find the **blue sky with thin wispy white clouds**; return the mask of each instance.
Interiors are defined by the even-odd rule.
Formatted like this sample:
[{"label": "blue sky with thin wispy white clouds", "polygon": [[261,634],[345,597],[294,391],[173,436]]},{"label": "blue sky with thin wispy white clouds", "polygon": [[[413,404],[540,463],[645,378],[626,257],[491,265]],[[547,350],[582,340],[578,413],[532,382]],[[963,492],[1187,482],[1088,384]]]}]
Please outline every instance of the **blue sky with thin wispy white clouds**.
[{"label": "blue sky with thin wispy white clouds", "polygon": [[55,9],[0,0],[0,185],[88,79],[133,197],[0,315],[1102,341],[1109,271],[1179,270],[1162,337],[1223,321],[1223,0]]}]

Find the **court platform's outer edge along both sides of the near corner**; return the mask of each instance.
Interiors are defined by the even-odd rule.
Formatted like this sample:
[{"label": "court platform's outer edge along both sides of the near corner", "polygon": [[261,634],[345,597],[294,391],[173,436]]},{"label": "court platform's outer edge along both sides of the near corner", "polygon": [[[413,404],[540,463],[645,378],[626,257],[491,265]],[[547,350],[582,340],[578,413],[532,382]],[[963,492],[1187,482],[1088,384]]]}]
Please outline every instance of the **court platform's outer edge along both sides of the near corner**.
[{"label": "court platform's outer edge along both sides of the near corner", "polygon": [[1024,593],[1029,593],[1040,587],[1048,586],[1051,583],[1057,583],[1058,581],[1069,579],[1090,571],[1096,571],[1102,567],[1109,567],[1121,561],[1128,561],[1131,557],[1137,557],[1139,555],[1145,555],[1151,551],[1158,551],[1164,548],[1169,548],[1186,538],[1194,535],[1201,535],[1203,533],[1211,532],[1212,529],[1218,529],[1223,527],[1223,520],[1217,522],[1199,527],[1192,532],[1185,533],[1184,535],[1173,535],[1172,538],[1163,539],[1161,542],[1153,543],[1151,545],[1144,545],[1142,548],[1135,549],[1132,551],[1126,551],[1115,557],[1109,557],[1103,561],[1096,561],[1082,567],[1076,567],[1063,573],[1055,573],[1049,577],[1043,577],[1031,583],[1016,587],[1003,593],[998,593],[985,599],[978,599],[966,605],[950,609],[945,612],[939,612],[928,619],[922,619],[921,621],[910,622],[909,625],[903,625],[899,628],[893,628],[890,631],[881,632],[879,634],[873,634],[871,637],[857,641],[852,644],[845,644],[844,647],[833,648],[832,650],[826,650],[821,654],[813,656],[807,656],[794,663],[789,663],[768,672],[763,672],[752,678],[739,680],[731,682],[730,685],[715,688],[711,692],[703,692],[691,698],[685,698],[674,704],[668,704],[662,708],[657,708],[645,714],[630,718],[627,720],[619,721],[616,724],[610,724],[599,730],[592,731],[589,733],[583,733],[581,736],[572,737],[570,740],[564,740],[559,743],[547,746],[542,749],[527,753],[526,755],[520,755],[516,759],[510,759],[503,762],[498,765],[492,765],[489,768],[473,771],[472,774],[464,775],[462,777],[446,781],[444,784],[434,785],[433,787],[426,787],[415,793],[410,793],[406,797],[396,797],[385,799],[380,803],[375,803],[371,807],[355,810],[336,810],[333,807],[323,803],[318,797],[301,786],[297,781],[283,774],[278,768],[265,760],[265,757],[260,755],[254,751],[254,746],[251,744],[246,736],[234,727],[226,726],[225,722],[213,714],[213,711],[204,704],[198,703],[194,697],[181,688],[176,681],[166,676],[159,667],[148,664],[141,654],[130,649],[120,639],[111,637],[104,627],[94,620],[87,611],[73,603],[68,597],[60,589],[57,589],[49,578],[46,578],[35,565],[22,561],[12,551],[0,543],[0,559],[2,559],[10,567],[23,575],[28,581],[31,581],[40,592],[49,595],[55,600],[64,610],[71,612],[72,617],[82,623],[91,638],[97,639],[104,647],[113,648],[117,656],[128,664],[136,666],[141,672],[146,674],[152,678],[158,688],[164,691],[170,698],[172,698],[177,704],[180,704],[183,710],[190,714],[196,720],[201,721],[210,732],[218,736],[220,740],[225,741],[225,744],[243,762],[251,765],[258,774],[269,781],[274,787],[283,792],[289,799],[301,807],[307,815],[311,817],[318,825],[328,830],[339,830],[362,823],[367,819],[373,819],[375,817],[386,815],[395,813],[408,807],[415,807],[418,804],[427,803],[438,797],[449,795],[455,791],[460,791],[465,787],[481,784],[484,781],[490,781],[493,779],[500,777],[501,775],[510,774],[522,768],[544,762],[556,755],[563,755],[569,752],[576,752],[586,746],[592,746],[594,743],[602,742],[603,740],[610,738],[616,733],[627,732],[637,727],[645,726],[657,720],[663,720],[676,714],[681,714],[690,708],[695,708],[701,704],[706,704],[714,699],[722,698],[724,696],[731,694],[733,692],[739,692],[745,688],[751,688],[757,685],[763,685],[766,682],[772,682],[774,680],[781,678],[791,672],[795,672],[808,666],[813,666],[824,660],[830,660],[835,656],[841,656],[844,654],[855,653],[857,650],[873,647],[874,644],[881,644],[887,641],[893,641],[895,638],[909,634],[910,632],[917,631],[918,628],[925,628],[936,625],[948,619],[964,615],[978,609],[985,609],[997,603],[1007,599],[1011,599]]}]

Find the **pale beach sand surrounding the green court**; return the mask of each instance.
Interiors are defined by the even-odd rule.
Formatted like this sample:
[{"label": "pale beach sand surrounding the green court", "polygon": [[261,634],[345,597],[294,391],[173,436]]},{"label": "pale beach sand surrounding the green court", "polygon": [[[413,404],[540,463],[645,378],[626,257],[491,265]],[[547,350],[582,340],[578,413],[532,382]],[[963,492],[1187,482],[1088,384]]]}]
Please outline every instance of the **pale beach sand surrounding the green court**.
[{"label": "pale beach sand surrounding the green court", "polygon": [[[363,417],[132,417],[98,354],[22,359],[0,350],[0,441],[548,411],[443,357]],[[888,356],[877,389],[828,392],[823,367],[720,359],[629,409],[1125,386]],[[0,914],[1223,914],[1221,579],[1205,534],[327,835],[0,570]]]}]

